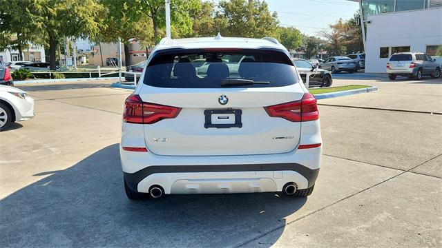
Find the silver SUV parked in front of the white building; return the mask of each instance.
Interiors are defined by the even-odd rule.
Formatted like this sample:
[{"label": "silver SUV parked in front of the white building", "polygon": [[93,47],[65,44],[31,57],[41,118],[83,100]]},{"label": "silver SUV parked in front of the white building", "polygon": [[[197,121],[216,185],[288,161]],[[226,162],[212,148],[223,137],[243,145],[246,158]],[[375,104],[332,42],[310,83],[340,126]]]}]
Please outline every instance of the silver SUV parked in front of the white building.
[{"label": "silver SUV parked in front of the white building", "polygon": [[400,52],[390,56],[387,62],[386,71],[390,80],[396,76],[407,76],[409,79],[422,79],[422,76],[431,76],[439,79],[441,76],[441,65],[436,59],[428,54],[420,52]]}]

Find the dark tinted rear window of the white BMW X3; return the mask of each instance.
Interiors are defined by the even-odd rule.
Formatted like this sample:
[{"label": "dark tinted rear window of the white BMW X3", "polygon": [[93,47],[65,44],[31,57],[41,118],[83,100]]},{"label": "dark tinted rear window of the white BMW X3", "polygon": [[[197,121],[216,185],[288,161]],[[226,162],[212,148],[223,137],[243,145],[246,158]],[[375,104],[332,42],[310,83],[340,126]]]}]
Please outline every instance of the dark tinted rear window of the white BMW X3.
[{"label": "dark tinted rear window of the white BMW X3", "polygon": [[274,50],[166,50],[154,54],[144,75],[144,84],[154,87],[279,87],[294,83],[298,77],[291,59]]}]

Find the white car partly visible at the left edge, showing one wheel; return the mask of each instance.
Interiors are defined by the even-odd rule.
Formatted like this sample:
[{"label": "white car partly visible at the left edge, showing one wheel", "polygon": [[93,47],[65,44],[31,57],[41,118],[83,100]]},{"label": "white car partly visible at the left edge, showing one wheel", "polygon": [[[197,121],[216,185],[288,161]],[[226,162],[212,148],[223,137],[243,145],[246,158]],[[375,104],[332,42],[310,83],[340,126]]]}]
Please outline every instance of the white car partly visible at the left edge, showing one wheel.
[{"label": "white car partly visible at the left edge, showing one wheel", "polygon": [[10,123],[34,117],[34,99],[16,87],[0,85],[0,131]]}]

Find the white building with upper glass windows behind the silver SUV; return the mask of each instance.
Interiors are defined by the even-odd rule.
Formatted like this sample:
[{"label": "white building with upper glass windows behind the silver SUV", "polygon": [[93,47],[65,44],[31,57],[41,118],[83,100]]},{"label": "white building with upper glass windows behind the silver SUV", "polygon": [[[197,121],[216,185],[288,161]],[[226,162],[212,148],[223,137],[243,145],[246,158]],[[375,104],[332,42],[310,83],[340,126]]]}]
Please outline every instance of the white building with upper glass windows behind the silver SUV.
[{"label": "white building with upper glass windows behind the silver SUV", "polygon": [[442,63],[442,0],[359,2],[365,72],[385,73],[395,52],[425,52]]}]

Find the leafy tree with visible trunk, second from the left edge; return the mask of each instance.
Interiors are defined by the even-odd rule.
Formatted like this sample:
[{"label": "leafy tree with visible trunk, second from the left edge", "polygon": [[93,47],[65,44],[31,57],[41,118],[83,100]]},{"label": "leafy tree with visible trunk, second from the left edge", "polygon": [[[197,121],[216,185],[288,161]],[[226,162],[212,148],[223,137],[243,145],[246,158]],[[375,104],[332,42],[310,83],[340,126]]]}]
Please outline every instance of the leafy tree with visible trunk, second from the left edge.
[{"label": "leafy tree with visible trunk, second from the left edge", "polygon": [[30,1],[21,11],[30,12],[36,31],[49,45],[50,70],[55,70],[55,51],[62,37],[94,37],[101,26],[97,0]]}]

